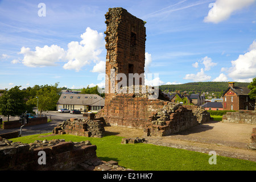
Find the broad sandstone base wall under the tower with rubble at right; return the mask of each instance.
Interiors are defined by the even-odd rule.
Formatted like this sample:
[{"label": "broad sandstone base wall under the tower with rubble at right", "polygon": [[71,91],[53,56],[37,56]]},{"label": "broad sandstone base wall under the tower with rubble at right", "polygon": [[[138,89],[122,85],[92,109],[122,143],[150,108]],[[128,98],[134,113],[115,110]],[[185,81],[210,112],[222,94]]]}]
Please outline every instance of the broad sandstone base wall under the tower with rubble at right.
[{"label": "broad sandstone base wall under the tower with rubble at right", "polygon": [[134,94],[116,94],[97,115],[109,126],[144,129],[145,135],[164,136],[208,122],[210,114],[201,107],[192,108],[170,101],[150,100]]}]

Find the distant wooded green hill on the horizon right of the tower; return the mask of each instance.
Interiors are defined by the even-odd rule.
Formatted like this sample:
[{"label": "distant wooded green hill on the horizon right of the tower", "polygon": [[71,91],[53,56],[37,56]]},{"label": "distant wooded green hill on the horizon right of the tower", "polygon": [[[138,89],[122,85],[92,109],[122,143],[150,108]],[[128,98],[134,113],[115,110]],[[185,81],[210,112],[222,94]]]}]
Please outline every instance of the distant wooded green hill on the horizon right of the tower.
[{"label": "distant wooded green hill on the horizon right of the tower", "polygon": [[[235,82],[235,86],[247,87],[249,82]],[[187,84],[179,84],[179,85],[161,85],[159,86],[161,90],[168,90],[168,92],[175,92],[179,90],[180,92],[225,92],[228,89],[228,82],[189,82]]]}]

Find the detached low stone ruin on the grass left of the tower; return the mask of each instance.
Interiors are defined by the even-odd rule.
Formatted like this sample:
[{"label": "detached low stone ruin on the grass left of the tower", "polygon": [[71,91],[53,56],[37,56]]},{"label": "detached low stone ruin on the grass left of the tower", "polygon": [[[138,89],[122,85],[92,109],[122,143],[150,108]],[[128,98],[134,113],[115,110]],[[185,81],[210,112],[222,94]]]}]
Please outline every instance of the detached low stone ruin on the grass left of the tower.
[{"label": "detached low stone ruin on the grass left of the tower", "polygon": [[53,129],[53,134],[71,134],[83,137],[102,138],[105,134],[104,123],[100,120],[71,118]]}]

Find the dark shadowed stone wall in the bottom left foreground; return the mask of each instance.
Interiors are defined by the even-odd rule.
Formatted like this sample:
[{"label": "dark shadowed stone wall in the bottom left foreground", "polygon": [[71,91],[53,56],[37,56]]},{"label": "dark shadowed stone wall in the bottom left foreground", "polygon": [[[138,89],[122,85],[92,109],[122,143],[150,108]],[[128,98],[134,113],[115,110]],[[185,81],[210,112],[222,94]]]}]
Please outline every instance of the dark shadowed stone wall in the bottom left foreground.
[{"label": "dark shadowed stone wall in the bottom left foreground", "polygon": [[[0,137],[0,171],[59,171],[69,169],[89,159],[97,158],[97,147],[89,141],[65,142],[64,139],[36,140],[26,144]],[[46,164],[39,158],[46,152]],[[41,160],[42,161],[42,160]]]}]

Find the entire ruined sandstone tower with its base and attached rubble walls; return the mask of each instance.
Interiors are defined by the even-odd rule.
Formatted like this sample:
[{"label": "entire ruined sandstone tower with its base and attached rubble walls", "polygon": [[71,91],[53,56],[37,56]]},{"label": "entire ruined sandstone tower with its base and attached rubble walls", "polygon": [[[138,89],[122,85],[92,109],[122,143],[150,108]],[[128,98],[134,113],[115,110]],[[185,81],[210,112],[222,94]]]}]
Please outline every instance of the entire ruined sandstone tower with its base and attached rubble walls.
[{"label": "entire ruined sandstone tower with its base and attached rubble walls", "polygon": [[[144,85],[146,28],[143,20],[127,10],[110,8],[106,17],[106,82],[105,106],[96,118],[104,118],[107,125],[144,129],[147,136],[164,136],[207,122],[209,113],[197,106],[182,106],[170,102],[159,90],[158,99],[151,99],[150,93],[137,93]],[[130,81],[133,92],[111,90],[123,80],[112,80],[123,73]],[[129,73],[141,75],[138,82]],[[139,87],[138,87],[139,86]],[[126,88],[125,88],[126,89]],[[154,88],[155,89],[155,88]]]}]

